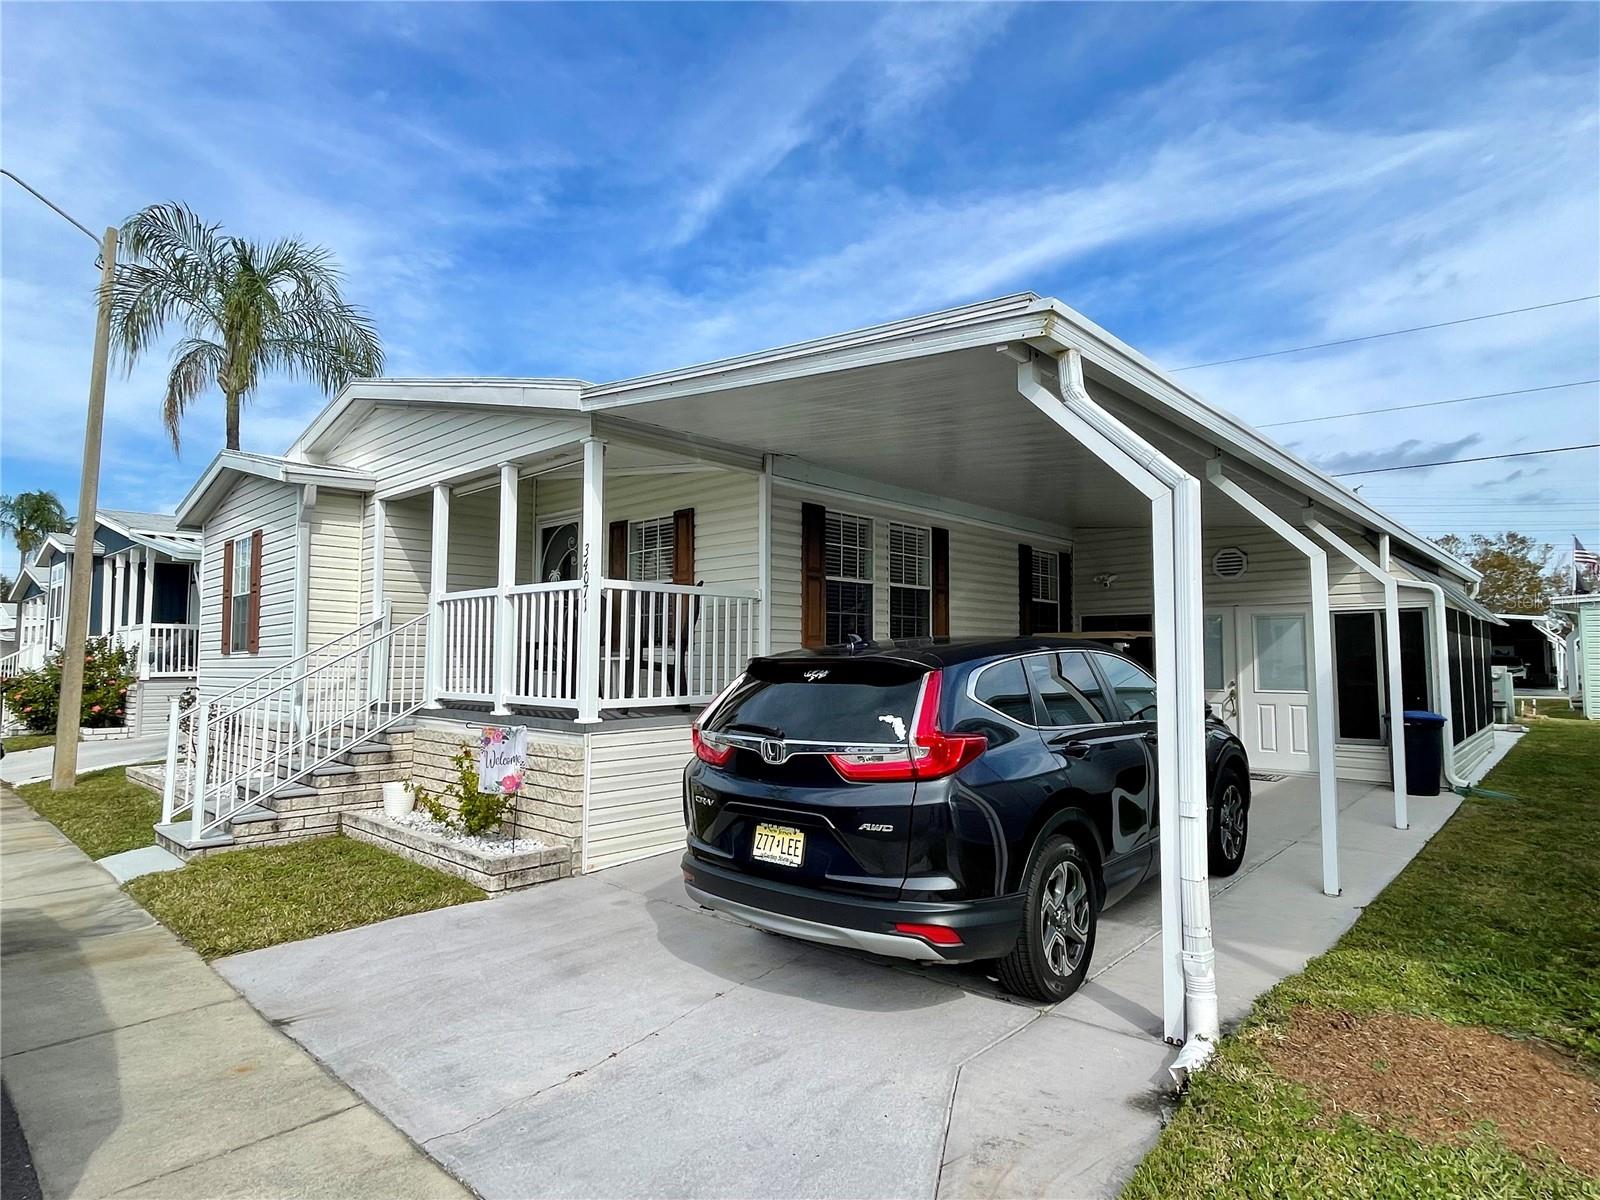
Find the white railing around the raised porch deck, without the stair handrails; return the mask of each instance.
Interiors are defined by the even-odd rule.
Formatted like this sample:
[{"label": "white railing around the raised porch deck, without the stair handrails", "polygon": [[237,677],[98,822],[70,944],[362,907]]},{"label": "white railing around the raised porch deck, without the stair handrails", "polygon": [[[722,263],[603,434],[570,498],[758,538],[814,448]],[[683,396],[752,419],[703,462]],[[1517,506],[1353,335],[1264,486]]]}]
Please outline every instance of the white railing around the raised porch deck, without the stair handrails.
[{"label": "white railing around the raised porch deck, without the stair handrails", "polygon": [[[501,624],[499,606],[510,606]],[[499,630],[514,637],[504,699],[578,707],[584,654],[582,582],[451,592],[438,600],[438,698],[499,699]],[[760,651],[760,594],[726,587],[600,581],[600,704],[706,704]]]}]

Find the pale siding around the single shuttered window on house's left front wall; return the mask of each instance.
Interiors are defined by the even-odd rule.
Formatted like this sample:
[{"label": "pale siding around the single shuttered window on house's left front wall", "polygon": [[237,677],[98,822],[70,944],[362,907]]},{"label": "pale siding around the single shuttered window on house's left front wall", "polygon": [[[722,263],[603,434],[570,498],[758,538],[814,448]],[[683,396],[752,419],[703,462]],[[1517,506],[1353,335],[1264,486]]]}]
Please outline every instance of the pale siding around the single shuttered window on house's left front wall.
[{"label": "pale siding around the single shuttered window on house's left front wall", "polygon": [[[294,656],[296,493],[293,483],[245,477],[205,522],[200,558],[200,691],[216,696]],[[222,653],[222,547],[261,530],[261,651]]]}]

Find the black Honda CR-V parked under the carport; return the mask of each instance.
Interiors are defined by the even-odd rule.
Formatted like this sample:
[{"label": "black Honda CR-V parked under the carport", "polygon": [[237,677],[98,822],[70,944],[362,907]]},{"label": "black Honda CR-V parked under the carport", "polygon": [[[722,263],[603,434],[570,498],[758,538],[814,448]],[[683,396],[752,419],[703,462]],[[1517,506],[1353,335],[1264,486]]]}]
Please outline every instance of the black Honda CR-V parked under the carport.
[{"label": "black Honda CR-V parked under the carport", "polygon": [[[1094,643],[917,642],[754,659],[694,725],[683,878],[774,933],[997,960],[1061,1000],[1099,912],[1158,870],[1155,680]],[[1250,766],[1206,738],[1211,872],[1245,854]]]}]

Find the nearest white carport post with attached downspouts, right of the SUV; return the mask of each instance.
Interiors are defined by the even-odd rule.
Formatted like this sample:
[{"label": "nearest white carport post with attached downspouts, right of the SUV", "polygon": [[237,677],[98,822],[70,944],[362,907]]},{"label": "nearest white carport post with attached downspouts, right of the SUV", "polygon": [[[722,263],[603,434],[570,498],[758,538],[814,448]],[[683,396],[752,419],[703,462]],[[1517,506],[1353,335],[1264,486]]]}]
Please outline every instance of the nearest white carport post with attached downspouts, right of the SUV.
[{"label": "nearest white carport post with attached downspouts, right of the SUV", "polygon": [[1200,667],[1200,482],[1090,397],[1078,350],[1069,347],[1056,362],[1059,397],[1043,386],[1034,358],[1018,363],[1018,392],[1150,502],[1154,616],[1162,630],[1155,638],[1162,1026],[1168,1042],[1200,1040],[1181,1056],[1198,1064],[1218,1035]]}]

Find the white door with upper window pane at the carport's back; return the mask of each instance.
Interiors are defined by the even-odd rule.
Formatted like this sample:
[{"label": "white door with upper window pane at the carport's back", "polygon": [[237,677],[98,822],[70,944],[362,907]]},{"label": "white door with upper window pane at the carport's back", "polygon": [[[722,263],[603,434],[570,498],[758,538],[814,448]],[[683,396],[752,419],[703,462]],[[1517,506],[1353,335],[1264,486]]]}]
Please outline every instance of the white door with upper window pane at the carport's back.
[{"label": "white door with upper window pane at the carport's back", "polygon": [[1310,618],[1304,608],[1245,610],[1238,621],[1240,738],[1250,765],[1310,771]]}]

